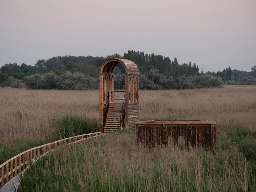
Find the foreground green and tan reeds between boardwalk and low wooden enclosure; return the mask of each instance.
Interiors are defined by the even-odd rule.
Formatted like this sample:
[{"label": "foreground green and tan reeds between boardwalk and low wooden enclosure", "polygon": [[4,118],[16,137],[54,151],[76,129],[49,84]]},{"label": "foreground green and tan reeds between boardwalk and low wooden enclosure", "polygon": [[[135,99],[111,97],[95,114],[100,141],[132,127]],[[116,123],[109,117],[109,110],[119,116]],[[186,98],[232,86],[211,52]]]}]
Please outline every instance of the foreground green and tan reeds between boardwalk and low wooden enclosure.
[{"label": "foreground green and tan reeds between boardwalk and low wooden enclosure", "polygon": [[[249,179],[249,178],[253,179]],[[111,133],[61,148],[21,180],[22,191],[255,191],[255,175],[239,152],[148,149],[135,132]]]}]

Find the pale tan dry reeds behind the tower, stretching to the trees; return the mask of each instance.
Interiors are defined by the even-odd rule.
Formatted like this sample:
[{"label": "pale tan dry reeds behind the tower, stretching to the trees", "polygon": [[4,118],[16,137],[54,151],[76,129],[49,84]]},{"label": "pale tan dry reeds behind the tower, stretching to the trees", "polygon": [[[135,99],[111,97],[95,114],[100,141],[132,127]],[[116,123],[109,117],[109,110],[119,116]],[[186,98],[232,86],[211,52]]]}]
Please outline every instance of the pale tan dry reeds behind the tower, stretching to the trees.
[{"label": "pale tan dry reeds behind the tower, stretching to the trees", "polygon": [[[25,90],[0,88],[0,151],[18,149],[25,142],[49,141],[52,119],[66,114],[98,118],[98,90]],[[140,119],[203,119],[217,129],[234,126],[255,130],[255,86],[220,89],[139,91]],[[10,142],[11,141],[11,142]],[[50,141],[49,141],[50,142]]]}]

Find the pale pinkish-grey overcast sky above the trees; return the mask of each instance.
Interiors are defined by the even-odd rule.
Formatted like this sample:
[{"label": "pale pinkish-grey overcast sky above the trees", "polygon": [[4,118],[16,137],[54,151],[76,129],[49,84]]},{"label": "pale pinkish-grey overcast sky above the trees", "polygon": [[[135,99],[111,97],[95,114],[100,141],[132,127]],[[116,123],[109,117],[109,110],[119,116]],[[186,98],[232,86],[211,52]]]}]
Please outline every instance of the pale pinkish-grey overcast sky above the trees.
[{"label": "pale pinkish-grey overcast sky above the trees", "polygon": [[0,0],[0,66],[128,50],[251,71],[256,0]]}]

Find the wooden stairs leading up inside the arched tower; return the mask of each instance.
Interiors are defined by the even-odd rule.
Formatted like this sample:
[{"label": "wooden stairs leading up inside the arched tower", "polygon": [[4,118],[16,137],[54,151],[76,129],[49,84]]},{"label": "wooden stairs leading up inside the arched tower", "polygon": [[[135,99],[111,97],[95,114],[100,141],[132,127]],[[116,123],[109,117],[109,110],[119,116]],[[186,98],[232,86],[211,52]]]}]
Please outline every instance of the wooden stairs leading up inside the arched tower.
[{"label": "wooden stairs leading up inside the arched tower", "polygon": [[122,129],[124,112],[125,110],[123,103],[109,103],[106,122],[105,126],[103,127],[103,133]]}]

